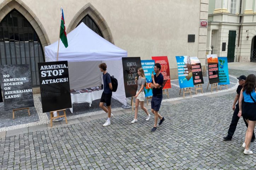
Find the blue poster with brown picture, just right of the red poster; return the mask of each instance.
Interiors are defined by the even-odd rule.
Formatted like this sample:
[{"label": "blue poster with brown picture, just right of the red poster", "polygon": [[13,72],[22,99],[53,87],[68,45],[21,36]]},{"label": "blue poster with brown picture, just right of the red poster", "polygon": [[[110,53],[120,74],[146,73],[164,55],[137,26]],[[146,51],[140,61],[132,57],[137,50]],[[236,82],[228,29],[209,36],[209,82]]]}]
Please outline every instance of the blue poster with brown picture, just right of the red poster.
[{"label": "blue poster with brown picture, just right of the red poster", "polygon": [[176,56],[180,88],[193,87],[190,56]]}]

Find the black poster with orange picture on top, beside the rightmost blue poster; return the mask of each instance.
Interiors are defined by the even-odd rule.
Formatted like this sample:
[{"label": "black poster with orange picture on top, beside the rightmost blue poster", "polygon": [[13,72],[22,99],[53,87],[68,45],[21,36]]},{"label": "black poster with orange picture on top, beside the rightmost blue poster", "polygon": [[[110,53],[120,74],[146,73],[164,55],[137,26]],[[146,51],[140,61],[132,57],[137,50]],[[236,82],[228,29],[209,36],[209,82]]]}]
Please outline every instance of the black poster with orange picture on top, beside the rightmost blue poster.
[{"label": "black poster with orange picture on top, beside the rightmost blue poster", "polygon": [[208,75],[210,84],[219,83],[219,62],[216,54],[206,55],[208,62]]}]

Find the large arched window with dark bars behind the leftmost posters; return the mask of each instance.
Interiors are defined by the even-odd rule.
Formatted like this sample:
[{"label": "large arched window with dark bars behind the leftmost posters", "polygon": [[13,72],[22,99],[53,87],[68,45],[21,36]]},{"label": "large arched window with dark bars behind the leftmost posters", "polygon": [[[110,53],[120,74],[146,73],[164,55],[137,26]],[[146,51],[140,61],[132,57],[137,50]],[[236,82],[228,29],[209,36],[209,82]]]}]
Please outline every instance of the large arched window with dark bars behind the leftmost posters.
[{"label": "large arched window with dark bars behind the leftmost posters", "polygon": [[35,87],[39,86],[38,62],[44,62],[44,54],[35,30],[21,13],[11,11],[0,23],[0,64],[29,64]]}]

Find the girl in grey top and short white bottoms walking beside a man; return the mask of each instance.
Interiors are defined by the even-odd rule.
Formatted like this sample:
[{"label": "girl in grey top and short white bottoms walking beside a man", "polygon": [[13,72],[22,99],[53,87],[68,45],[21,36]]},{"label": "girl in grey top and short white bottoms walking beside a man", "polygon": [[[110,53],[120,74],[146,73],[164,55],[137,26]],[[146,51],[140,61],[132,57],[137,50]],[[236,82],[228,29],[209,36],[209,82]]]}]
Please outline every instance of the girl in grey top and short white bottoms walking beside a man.
[{"label": "girl in grey top and short white bottoms walking beside a man", "polygon": [[141,109],[147,114],[146,121],[148,121],[149,118],[150,118],[149,112],[147,112],[147,109],[144,107],[144,100],[145,100],[144,86],[146,86],[147,83],[146,83],[144,70],[141,67],[138,69],[138,75],[139,75],[138,80],[135,77],[135,82],[138,84],[138,88],[137,88],[137,93],[135,95],[135,98],[136,98],[136,101],[135,101],[135,115],[134,115],[133,121],[131,121],[132,124],[138,121],[137,120],[137,115],[138,115],[139,103],[140,103]]}]

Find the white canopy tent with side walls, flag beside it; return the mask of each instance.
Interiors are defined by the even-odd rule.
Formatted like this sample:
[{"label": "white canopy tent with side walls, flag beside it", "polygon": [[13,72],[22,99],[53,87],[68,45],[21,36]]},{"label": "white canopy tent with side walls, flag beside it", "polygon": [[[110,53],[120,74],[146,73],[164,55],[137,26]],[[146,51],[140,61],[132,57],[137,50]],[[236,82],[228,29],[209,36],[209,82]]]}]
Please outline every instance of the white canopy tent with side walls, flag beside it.
[{"label": "white canopy tent with side walls, flag beside it", "polygon": [[[107,72],[118,80],[118,88],[112,97],[124,105],[126,95],[122,57],[127,57],[127,51],[111,44],[97,33],[89,29],[83,22],[67,34],[68,47],[59,43],[58,61],[68,61],[69,83],[71,89],[81,89],[100,86],[102,73],[98,65],[107,64]],[[45,47],[46,62],[57,61],[58,41]]]}]

